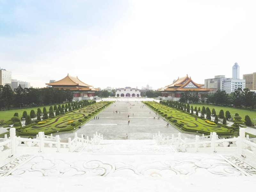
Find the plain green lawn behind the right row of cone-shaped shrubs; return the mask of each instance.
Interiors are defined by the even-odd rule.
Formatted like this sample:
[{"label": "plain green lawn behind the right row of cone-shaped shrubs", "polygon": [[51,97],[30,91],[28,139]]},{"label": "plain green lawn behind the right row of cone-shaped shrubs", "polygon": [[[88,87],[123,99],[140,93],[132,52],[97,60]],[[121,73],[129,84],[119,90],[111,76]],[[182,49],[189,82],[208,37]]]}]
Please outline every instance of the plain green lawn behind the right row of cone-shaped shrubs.
[{"label": "plain green lawn behind the right row of cone-shaped shrubs", "polygon": [[254,120],[253,119],[256,119],[256,111],[250,111],[250,110],[244,110],[244,109],[237,109],[237,108],[232,108],[232,107],[223,107],[223,106],[216,106],[216,105],[206,105],[206,104],[189,104],[190,105],[190,108],[191,106],[193,106],[193,109],[195,109],[195,107],[198,108],[200,107],[200,109],[202,110],[202,107],[204,106],[205,108],[206,107],[209,107],[211,112],[212,112],[212,108],[215,109],[216,111],[216,114],[219,115],[219,112],[220,110],[222,109],[224,111],[224,115],[225,115],[225,112],[226,111],[229,111],[230,114],[231,114],[231,117],[233,118],[235,116],[235,113],[238,113],[239,116],[242,117],[242,120],[244,120],[244,117],[246,115],[248,115],[252,122],[254,123]]}]

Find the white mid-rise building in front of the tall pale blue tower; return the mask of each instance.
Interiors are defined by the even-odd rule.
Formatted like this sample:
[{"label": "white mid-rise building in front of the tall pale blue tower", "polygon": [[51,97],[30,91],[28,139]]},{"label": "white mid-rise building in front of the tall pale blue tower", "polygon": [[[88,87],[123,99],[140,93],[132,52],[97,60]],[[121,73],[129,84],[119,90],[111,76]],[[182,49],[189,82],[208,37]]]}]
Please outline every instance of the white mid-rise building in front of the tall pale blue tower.
[{"label": "white mid-rise building in front of the tall pale blue tower", "polygon": [[221,90],[226,91],[228,94],[235,92],[238,88],[241,88],[242,90],[245,88],[244,79],[228,78],[221,82]]}]

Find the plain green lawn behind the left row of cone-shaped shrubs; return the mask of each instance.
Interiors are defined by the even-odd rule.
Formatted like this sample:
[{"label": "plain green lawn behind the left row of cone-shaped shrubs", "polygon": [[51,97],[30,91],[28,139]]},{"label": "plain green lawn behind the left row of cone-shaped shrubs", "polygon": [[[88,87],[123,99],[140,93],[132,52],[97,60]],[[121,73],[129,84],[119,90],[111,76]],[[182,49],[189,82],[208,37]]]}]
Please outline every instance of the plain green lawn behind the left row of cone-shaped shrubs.
[{"label": "plain green lawn behind the left row of cone-shaped shrubs", "polygon": [[[47,106],[41,106],[41,107],[31,107],[31,108],[23,108],[23,109],[11,109],[11,110],[7,110],[7,111],[0,111],[0,120],[4,120],[4,121],[8,121],[10,120],[14,113],[18,113],[19,117],[22,116],[23,111],[27,111],[28,115],[30,114],[30,111],[33,109],[36,113],[37,108],[40,108],[41,111],[43,111],[43,108],[45,107],[46,110],[48,111],[51,105],[47,105]],[[54,105],[52,105],[53,107]],[[58,105],[57,105],[58,106]]]}]

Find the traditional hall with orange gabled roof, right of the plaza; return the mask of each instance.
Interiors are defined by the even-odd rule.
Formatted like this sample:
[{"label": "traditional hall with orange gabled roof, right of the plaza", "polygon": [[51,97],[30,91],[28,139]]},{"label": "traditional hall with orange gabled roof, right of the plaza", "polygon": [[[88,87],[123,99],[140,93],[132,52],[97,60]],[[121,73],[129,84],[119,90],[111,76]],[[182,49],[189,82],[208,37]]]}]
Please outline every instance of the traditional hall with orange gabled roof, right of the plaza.
[{"label": "traditional hall with orange gabled roof, right of the plaza", "polygon": [[179,100],[180,94],[183,92],[196,92],[199,97],[201,97],[202,93],[207,93],[212,91],[212,89],[204,88],[204,84],[195,83],[192,81],[191,77],[188,77],[187,75],[185,77],[178,78],[172,84],[167,85],[158,91],[162,92],[162,97],[170,97],[171,100]]}]

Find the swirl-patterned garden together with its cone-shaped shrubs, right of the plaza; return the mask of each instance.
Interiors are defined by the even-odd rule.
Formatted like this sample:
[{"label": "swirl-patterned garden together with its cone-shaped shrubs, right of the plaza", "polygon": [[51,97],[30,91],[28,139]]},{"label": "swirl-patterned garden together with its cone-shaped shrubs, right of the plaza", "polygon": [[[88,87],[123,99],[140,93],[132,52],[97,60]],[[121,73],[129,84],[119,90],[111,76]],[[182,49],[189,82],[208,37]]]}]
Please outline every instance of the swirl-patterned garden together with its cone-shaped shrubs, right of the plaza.
[{"label": "swirl-patterned garden together with its cone-shaped shrubs, right of the plaza", "polygon": [[[193,106],[190,107],[189,104],[180,103],[178,101],[161,101],[160,103],[144,101],[143,103],[164,117],[169,123],[174,124],[174,126],[182,132],[204,134],[216,132],[219,136],[237,136],[239,127],[243,127],[246,123],[242,121],[241,118],[238,118],[238,122],[235,120],[233,126],[229,127],[226,125],[227,122],[225,122],[226,117],[224,116],[223,110],[220,110],[220,114],[216,115],[216,112],[214,114],[215,110],[213,110],[212,113],[209,108],[205,108],[204,106],[202,110],[200,110],[200,108],[197,109],[195,107],[193,109]],[[201,113],[200,116],[198,116],[198,111]],[[204,114],[208,114],[206,116],[207,118],[204,118]],[[215,116],[214,121],[211,120],[211,115]],[[218,115],[223,115],[222,123],[220,123],[220,117],[218,117]],[[226,115],[228,114],[226,113]]]}]

